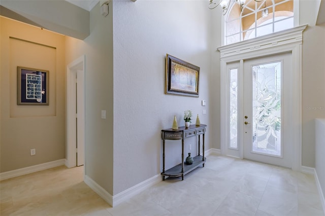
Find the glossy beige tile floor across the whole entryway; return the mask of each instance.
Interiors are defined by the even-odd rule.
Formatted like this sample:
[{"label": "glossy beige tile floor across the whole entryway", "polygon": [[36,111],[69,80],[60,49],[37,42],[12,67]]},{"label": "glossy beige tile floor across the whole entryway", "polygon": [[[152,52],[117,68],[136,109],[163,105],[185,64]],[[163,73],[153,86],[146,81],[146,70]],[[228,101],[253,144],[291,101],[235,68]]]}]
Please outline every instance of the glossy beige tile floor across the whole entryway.
[{"label": "glossy beige tile floor across the whole entryway", "polygon": [[323,215],[313,175],[210,155],[184,181],[167,178],[110,207],[64,166],[7,179],[1,215]]}]

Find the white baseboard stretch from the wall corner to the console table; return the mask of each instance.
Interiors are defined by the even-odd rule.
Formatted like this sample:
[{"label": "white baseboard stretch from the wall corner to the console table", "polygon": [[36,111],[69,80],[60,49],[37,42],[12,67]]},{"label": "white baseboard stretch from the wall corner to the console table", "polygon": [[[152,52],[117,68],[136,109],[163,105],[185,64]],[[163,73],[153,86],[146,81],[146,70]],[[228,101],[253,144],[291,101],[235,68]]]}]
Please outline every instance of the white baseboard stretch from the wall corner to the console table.
[{"label": "white baseboard stretch from the wall corner to the console table", "polygon": [[148,189],[149,187],[163,181],[163,177],[161,177],[160,174],[157,174],[141,183],[138,185],[135,185],[129,189],[126,189],[125,191],[122,191],[119,194],[116,194],[113,196],[113,206],[116,206],[120,204],[121,202],[125,201],[126,199]]}]

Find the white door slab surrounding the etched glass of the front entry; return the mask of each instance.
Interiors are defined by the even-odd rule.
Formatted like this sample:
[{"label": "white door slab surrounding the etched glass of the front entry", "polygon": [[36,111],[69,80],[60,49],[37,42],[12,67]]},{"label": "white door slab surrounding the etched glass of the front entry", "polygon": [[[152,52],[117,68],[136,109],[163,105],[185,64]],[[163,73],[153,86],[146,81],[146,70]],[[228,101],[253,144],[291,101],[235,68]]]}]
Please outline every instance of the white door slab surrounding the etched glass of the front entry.
[{"label": "white door slab surrounding the etched glass of the front entry", "polygon": [[[244,135],[244,145],[242,146],[244,151],[244,158],[261,161],[265,163],[270,163],[278,166],[283,166],[287,168],[292,167],[292,146],[293,146],[293,139],[291,138],[292,129],[294,128],[293,121],[292,121],[292,110],[293,105],[291,96],[293,94],[292,92],[292,77],[293,77],[293,70],[292,70],[292,53],[282,53],[272,56],[266,56],[266,57],[257,57],[254,59],[249,59],[244,61],[244,80],[243,80],[243,98],[244,98],[244,114],[239,117],[241,121],[239,121],[239,124],[244,126],[244,131],[240,131],[241,134]],[[280,97],[281,97],[281,112],[280,112],[280,122],[281,122],[281,129],[279,134],[279,140],[280,140],[280,152],[281,155],[272,155],[272,153],[266,153],[266,152],[254,152],[252,149],[253,144],[253,123],[254,118],[253,116],[253,73],[252,73],[252,66],[253,65],[267,65],[270,63],[277,63],[279,66],[279,70],[276,72],[277,74],[280,74],[280,80],[281,80],[281,87],[280,87]],[[256,81],[257,81],[257,75],[256,75]],[[269,83],[268,83],[269,84]],[[256,92],[258,94],[259,92]],[[244,119],[244,116],[248,116],[247,119]],[[244,125],[244,121],[250,122],[250,124]],[[258,134],[257,131],[256,135]],[[257,138],[257,137],[256,137]],[[253,153],[254,152],[254,153]]]}]

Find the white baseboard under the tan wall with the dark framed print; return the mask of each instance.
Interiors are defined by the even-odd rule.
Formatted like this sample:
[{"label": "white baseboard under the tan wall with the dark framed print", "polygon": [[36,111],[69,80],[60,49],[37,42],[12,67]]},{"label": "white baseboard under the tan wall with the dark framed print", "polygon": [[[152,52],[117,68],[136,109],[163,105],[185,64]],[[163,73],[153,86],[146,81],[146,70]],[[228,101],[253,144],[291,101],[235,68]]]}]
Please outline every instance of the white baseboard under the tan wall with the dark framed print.
[{"label": "white baseboard under the tan wall with the dark framed print", "polygon": [[20,169],[2,172],[2,173],[0,173],[0,181],[8,179],[8,178],[17,177],[20,175],[29,174],[32,172],[38,172],[38,171],[42,171],[45,169],[62,166],[65,164],[65,162],[66,162],[66,159],[60,159],[60,160],[42,163],[42,164],[38,164],[38,165],[34,165],[34,166],[28,166],[28,167],[24,167],[24,168],[20,168]]}]

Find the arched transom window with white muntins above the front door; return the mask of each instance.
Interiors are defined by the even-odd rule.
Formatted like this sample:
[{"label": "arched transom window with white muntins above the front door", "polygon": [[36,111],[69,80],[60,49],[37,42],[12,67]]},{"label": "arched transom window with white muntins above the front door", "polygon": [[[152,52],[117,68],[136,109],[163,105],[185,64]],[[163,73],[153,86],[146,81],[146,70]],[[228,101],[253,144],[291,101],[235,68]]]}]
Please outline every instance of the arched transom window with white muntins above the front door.
[{"label": "arched transom window with white muntins above the front door", "polygon": [[225,15],[224,44],[260,37],[294,27],[293,0],[246,0],[241,12],[240,5],[232,2]]}]

